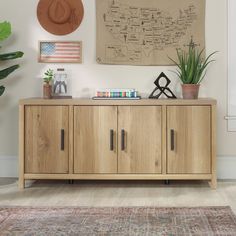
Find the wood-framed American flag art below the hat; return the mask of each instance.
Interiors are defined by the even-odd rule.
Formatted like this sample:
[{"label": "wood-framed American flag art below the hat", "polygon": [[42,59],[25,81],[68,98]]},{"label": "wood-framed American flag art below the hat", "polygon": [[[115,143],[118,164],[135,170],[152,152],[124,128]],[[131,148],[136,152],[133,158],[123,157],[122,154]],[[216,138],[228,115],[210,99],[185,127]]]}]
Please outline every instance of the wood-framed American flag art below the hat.
[{"label": "wood-framed American flag art below the hat", "polygon": [[82,63],[81,41],[40,41],[41,63]]}]

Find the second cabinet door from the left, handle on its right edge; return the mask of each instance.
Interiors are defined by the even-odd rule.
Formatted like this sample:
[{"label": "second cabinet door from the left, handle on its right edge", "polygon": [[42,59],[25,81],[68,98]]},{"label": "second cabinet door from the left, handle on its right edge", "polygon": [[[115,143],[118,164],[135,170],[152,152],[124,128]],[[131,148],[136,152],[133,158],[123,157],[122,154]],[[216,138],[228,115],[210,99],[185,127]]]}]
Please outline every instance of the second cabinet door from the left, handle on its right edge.
[{"label": "second cabinet door from the left, handle on its right edge", "polygon": [[117,173],[117,107],[74,108],[74,173]]}]

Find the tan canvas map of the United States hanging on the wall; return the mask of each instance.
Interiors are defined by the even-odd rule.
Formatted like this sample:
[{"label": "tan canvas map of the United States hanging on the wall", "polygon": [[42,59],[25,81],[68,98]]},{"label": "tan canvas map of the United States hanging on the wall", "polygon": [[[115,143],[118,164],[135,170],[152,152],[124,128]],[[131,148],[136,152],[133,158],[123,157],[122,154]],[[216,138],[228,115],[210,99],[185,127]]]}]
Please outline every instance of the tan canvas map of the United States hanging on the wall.
[{"label": "tan canvas map of the United States hanging on the wall", "polygon": [[97,62],[173,65],[191,40],[205,47],[205,0],[96,0]]}]

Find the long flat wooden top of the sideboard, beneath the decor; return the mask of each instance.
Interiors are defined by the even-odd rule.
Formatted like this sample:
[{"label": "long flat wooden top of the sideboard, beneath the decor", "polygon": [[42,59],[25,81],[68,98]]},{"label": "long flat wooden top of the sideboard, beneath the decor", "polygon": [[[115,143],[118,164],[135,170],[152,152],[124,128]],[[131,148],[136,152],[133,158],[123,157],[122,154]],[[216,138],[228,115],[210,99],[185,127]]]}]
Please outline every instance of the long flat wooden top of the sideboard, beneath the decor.
[{"label": "long flat wooden top of the sideboard, beneath the decor", "polygon": [[165,105],[216,105],[212,98],[188,99],[140,99],[140,100],[93,100],[83,98],[73,99],[43,99],[26,98],[19,101],[20,105],[71,105],[71,106],[165,106]]}]

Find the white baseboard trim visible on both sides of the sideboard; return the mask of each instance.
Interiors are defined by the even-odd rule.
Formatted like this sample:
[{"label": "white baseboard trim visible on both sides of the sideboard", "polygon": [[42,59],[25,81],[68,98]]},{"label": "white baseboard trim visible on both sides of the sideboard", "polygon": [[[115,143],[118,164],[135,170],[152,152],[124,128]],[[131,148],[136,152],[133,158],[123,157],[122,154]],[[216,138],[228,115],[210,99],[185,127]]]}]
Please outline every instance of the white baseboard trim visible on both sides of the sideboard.
[{"label": "white baseboard trim visible on both sides of the sideboard", "polygon": [[[17,156],[0,156],[0,177],[18,176]],[[217,157],[218,179],[236,179],[236,156]]]}]

